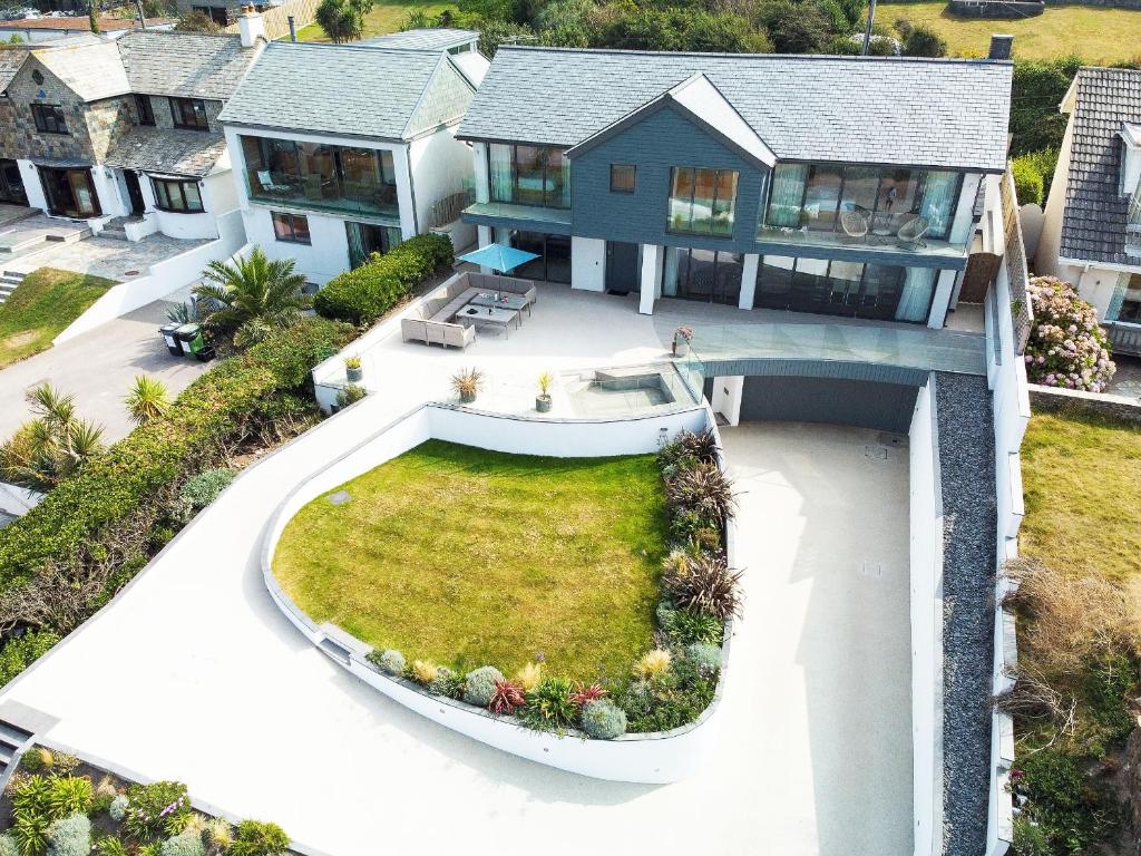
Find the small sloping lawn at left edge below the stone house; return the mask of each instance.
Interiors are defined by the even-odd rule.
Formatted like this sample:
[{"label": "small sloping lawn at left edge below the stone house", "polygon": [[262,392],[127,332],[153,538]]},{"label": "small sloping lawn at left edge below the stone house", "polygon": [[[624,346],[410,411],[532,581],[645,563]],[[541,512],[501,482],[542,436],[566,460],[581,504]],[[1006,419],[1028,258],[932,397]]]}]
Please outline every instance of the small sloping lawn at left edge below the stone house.
[{"label": "small sloping lawn at left edge below the stone house", "polygon": [[0,304],[0,368],[47,350],[114,280],[41,267]]}]

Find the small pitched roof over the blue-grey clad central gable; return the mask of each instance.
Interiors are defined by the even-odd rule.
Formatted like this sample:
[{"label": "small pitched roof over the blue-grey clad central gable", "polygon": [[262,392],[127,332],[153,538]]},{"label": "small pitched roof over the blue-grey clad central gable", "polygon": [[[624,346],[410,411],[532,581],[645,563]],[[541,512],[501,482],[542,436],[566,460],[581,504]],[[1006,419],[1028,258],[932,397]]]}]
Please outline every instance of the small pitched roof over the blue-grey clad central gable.
[{"label": "small pitched roof over the blue-grey clad central gable", "polygon": [[674,104],[698,126],[720,137],[730,147],[760,167],[771,167],[776,156],[764,140],[756,136],[750,124],[742,119],[741,113],[726,100],[710,79],[698,72],[681,81],[672,89],[662,92],[638,110],[628,113],[616,122],[567,151],[572,159],[586,152],[610,137],[621,134],[625,128],[637,124],[648,114]]}]

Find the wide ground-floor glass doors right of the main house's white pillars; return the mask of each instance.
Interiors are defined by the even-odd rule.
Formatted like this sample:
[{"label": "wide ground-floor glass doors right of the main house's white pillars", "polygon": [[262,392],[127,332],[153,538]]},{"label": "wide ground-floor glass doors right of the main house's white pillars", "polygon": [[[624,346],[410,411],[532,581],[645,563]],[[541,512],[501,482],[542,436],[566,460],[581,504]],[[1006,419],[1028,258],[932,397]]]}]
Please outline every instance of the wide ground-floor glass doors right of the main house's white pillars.
[{"label": "wide ground-floor glass doors right of the main house's white pillars", "polygon": [[925,323],[934,268],[764,256],[753,306],[880,321]]}]

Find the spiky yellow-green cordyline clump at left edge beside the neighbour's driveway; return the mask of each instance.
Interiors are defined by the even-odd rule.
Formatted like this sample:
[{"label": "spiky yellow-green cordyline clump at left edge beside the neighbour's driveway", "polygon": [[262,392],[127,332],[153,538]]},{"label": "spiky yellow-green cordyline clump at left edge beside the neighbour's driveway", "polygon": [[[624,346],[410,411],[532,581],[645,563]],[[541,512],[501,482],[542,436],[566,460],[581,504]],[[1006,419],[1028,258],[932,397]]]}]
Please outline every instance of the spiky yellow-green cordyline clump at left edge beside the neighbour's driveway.
[{"label": "spiky yellow-green cordyline clump at left edge beside the neighbour's driveway", "polygon": [[0,481],[47,492],[103,452],[103,428],[75,415],[75,399],[49,383],[27,394],[34,414],[0,445]]}]

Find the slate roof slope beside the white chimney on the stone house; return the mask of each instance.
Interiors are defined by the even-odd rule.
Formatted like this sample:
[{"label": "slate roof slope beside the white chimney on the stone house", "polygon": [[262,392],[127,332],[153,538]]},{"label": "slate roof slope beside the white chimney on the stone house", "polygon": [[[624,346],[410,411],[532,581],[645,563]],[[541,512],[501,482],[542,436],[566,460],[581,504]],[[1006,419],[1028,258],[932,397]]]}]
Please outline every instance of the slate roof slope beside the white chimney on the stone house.
[{"label": "slate roof slope beside the white chimney on the stone house", "polygon": [[115,43],[131,91],[213,100],[234,94],[258,53],[238,35],[205,33],[135,32]]}]

